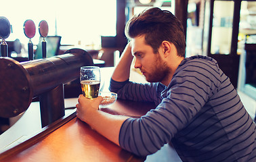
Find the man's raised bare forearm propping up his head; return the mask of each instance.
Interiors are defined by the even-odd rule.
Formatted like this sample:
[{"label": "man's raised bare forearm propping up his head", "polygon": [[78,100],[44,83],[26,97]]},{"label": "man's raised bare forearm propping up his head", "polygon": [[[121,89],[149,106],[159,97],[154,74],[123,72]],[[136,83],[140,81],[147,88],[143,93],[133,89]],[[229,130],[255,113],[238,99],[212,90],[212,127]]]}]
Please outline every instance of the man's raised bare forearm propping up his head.
[{"label": "man's raised bare forearm propping up his head", "polygon": [[131,55],[131,47],[129,44],[125,47],[119,64],[116,65],[112,79],[117,82],[124,82],[129,79],[131,62],[133,61],[133,55]]}]

